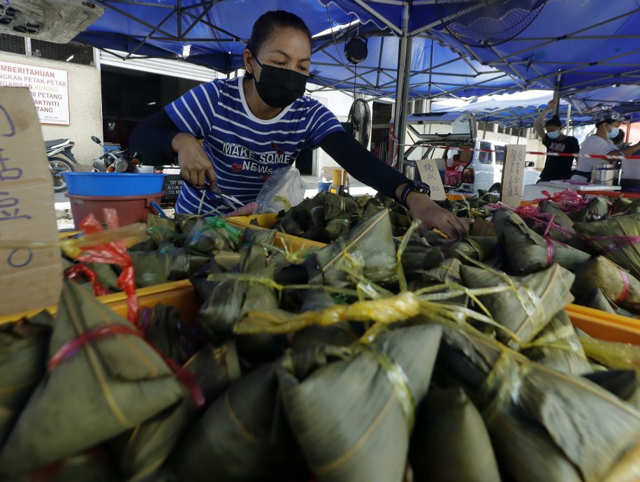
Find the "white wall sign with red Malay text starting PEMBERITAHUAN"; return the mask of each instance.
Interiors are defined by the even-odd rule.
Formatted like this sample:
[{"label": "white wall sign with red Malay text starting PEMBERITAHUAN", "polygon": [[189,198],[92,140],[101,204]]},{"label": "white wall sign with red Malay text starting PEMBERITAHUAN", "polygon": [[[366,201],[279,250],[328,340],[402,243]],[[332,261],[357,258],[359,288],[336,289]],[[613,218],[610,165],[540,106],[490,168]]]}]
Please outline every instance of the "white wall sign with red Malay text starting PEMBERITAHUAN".
[{"label": "white wall sign with red Malay text starting PEMBERITAHUAN", "polygon": [[41,124],[69,125],[66,71],[0,61],[0,87],[29,87]]}]

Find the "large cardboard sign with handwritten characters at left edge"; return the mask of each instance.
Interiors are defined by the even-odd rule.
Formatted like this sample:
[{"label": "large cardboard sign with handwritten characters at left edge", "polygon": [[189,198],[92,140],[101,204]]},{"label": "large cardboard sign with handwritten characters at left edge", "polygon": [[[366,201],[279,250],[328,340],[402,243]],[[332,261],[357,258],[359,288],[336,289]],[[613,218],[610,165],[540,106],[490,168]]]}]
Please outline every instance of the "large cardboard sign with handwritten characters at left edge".
[{"label": "large cardboard sign with handwritten characters at left edge", "polygon": [[0,87],[0,315],[58,302],[62,261],[53,187],[29,89]]}]

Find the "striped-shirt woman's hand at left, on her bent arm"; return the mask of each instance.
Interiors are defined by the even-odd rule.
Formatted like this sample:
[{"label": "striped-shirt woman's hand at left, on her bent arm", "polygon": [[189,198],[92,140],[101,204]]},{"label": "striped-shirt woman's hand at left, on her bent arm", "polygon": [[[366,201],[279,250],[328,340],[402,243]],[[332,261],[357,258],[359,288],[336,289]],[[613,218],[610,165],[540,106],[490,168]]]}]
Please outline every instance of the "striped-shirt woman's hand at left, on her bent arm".
[{"label": "striped-shirt woman's hand at left, on her bent arm", "polygon": [[181,132],[173,138],[171,147],[177,153],[182,179],[196,189],[201,189],[208,180],[209,189],[213,191],[216,187],[217,177],[213,170],[213,164],[201,143],[191,134]]}]

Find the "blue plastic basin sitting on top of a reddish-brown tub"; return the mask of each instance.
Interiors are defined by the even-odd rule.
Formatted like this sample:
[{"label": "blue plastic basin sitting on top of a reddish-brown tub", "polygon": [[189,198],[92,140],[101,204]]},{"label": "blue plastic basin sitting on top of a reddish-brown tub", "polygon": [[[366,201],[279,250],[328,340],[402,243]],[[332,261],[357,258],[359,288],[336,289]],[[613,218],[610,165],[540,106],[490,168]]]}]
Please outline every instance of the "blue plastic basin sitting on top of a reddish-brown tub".
[{"label": "blue plastic basin sitting on top of a reddish-brown tub", "polygon": [[73,196],[145,196],[162,191],[166,174],[61,173]]}]

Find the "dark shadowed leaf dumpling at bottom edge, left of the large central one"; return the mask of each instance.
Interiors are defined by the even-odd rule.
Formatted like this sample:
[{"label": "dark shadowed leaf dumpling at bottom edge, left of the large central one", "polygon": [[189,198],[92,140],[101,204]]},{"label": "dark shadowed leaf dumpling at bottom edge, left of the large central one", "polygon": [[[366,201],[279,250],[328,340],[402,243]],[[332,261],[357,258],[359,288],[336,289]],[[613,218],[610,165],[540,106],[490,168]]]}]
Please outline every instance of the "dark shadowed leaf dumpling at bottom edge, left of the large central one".
[{"label": "dark shadowed leaf dumpling at bottom edge, left of the large central one", "polygon": [[276,370],[276,363],[263,365],[233,382],[198,419],[170,459],[180,480],[304,480],[303,458],[282,413]]}]

